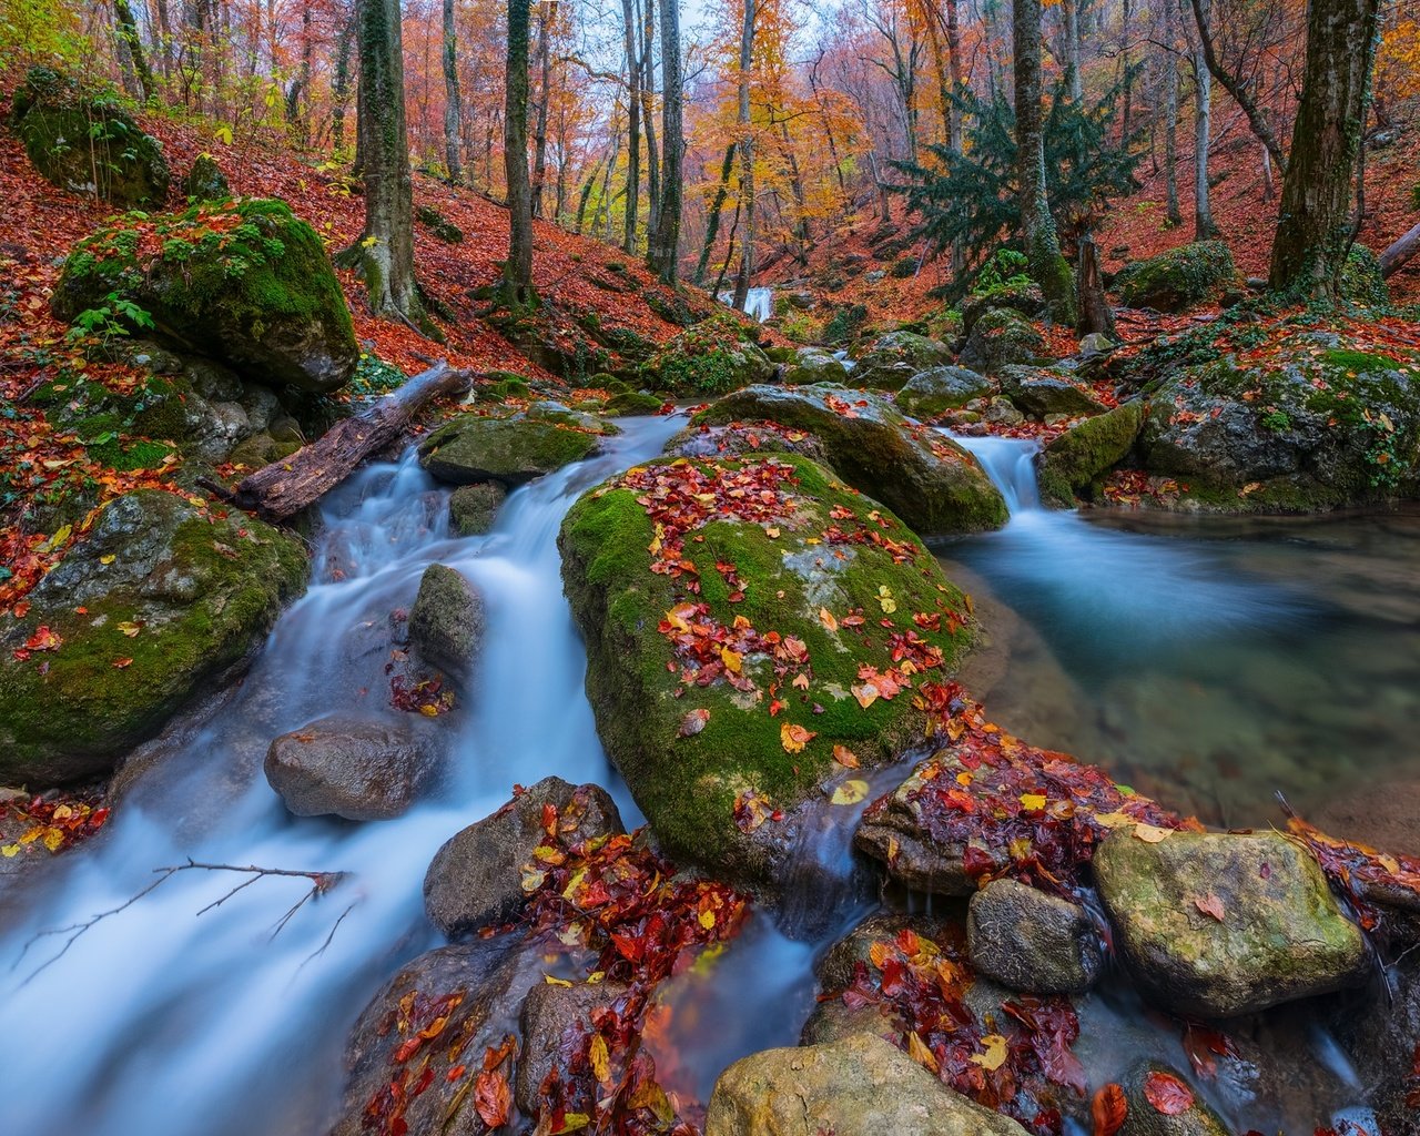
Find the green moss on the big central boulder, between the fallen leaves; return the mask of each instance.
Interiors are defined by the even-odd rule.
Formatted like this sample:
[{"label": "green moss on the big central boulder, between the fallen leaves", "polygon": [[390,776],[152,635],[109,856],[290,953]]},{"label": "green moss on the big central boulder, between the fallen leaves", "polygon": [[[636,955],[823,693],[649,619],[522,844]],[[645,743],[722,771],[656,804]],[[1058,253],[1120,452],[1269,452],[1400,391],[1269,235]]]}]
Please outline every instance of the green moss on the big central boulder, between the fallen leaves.
[{"label": "green moss on the big central boulder, between the fallen leaves", "polygon": [[[777,716],[770,714],[768,696],[746,703],[723,680],[677,697],[679,676],[667,669],[672,645],[657,626],[684,596],[674,581],[650,572],[646,548],[655,532],[636,491],[584,496],[559,538],[564,585],[588,640],[586,683],[598,728],[639,807],[672,853],[761,882],[770,872],[767,853],[733,818],[741,791],[753,788],[788,808],[815,797],[835,771],[835,743],[849,746],[870,767],[895,755],[923,726],[907,693],[879,699],[866,710],[849,693],[861,665],[892,666],[885,630],[878,626],[885,618],[879,588],[889,588],[897,604],[890,616],[897,630],[917,630],[914,612],[964,611],[961,594],[936,561],[885,510],[878,513],[893,540],[910,545],[910,562],[895,564],[889,552],[868,545],[849,545],[846,559],[838,561],[816,544],[834,523],[831,510],[866,517],[872,504],[807,459],[777,460],[791,464],[798,477],[792,494],[798,511],[792,524],[778,525],[777,540],[760,525],[714,520],[696,534],[703,541],[684,545],[699,572],[700,601],[717,621],[728,626],[743,616],[761,633],[777,630],[805,642],[811,686],[804,693],[778,692],[785,706]],[[723,466],[740,469],[741,463]],[[717,562],[736,567],[743,602],[730,602]],[[862,608],[870,619],[861,636],[843,628],[831,632],[818,616],[821,606],[839,615]],[[968,632],[919,633],[941,648],[950,673]],[[761,690],[772,682],[767,660],[750,656],[744,666]],[[814,713],[815,704],[822,713]],[[710,710],[709,723],[701,733],[680,737],[679,726],[692,709]],[[785,721],[816,733],[802,753],[784,750],[780,728]]]}]

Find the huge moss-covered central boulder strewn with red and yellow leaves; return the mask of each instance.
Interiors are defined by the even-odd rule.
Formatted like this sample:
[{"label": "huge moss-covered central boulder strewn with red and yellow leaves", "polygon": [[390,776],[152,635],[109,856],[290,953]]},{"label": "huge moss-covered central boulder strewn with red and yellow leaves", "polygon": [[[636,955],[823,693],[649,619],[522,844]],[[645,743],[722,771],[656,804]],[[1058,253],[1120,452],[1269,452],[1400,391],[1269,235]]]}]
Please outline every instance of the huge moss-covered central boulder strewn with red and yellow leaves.
[{"label": "huge moss-covered central boulder strewn with red and yellow leaves", "polygon": [[910,690],[865,686],[900,676],[895,642],[919,684],[968,639],[903,523],[797,456],[648,463],[585,494],[558,545],[602,743],[663,846],[724,878],[775,878],[798,807],[842,780],[835,746],[872,768],[917,737]]}]

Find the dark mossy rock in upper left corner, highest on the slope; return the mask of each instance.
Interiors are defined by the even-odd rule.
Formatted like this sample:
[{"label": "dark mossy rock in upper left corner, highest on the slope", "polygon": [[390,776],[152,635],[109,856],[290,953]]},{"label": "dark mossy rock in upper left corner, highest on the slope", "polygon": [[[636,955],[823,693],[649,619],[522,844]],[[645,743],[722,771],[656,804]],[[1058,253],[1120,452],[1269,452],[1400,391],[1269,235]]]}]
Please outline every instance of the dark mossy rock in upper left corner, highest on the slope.
[{"label": "dark mossy rock in upper left corner, highest on the slope", "polygon": [[54,185],[118,206],[158,206],[172,173],[156,138],[112,94],[84,91],[48,67],[31,67],[14,92],[10,125]]}]

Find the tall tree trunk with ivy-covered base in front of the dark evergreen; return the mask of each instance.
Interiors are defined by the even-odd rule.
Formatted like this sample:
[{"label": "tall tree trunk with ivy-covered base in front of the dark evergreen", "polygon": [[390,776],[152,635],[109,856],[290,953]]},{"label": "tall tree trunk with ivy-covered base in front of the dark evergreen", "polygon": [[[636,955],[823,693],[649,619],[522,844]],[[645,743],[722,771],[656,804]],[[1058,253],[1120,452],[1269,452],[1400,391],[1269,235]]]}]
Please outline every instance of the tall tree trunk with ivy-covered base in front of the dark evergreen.
[{"label": "tall tree trunk with ivy-covered base in front of the dark evergreen", "polygon": [[1015,148],[1021,239],[1031,275],[1045,293],[1051,317],[1075,325],[1075,281],[1061,256],[1059,236],[1045,196],[1045,136],[1041,122],[1041,0],[1015,0],[1011,20],[1015,54]]}]

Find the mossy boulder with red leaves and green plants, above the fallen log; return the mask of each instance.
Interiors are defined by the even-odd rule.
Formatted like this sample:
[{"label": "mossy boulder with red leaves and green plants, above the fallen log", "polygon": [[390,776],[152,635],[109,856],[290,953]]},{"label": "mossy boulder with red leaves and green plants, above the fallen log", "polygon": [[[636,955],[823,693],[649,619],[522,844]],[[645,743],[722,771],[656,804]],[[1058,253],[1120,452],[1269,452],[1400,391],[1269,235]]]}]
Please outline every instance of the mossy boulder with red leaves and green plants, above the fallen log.
[{"label": "mossy boulder with red leaves and green plants, above the fallen log", "polygon": [[257,382],[334,390],[359,362],[325,246],[284,202],[209,202],[102,229],[70,253],[50,302],[70,322],[115,293],[148,312],[151,335]]}]

